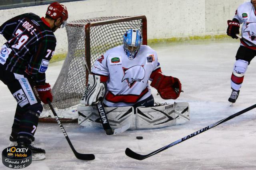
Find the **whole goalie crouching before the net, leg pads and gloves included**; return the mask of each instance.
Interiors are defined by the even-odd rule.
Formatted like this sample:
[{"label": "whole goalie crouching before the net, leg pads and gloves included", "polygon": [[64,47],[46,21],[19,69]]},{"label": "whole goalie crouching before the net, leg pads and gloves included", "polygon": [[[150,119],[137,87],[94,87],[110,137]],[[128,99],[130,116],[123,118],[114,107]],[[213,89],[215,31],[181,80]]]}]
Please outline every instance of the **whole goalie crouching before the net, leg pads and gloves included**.
[{"label": "whole goalie crouching before the net, leg pads and gloves included", "polygon": [[128,30],[123,42],[95,62],[80,101],[85,106],[77,109],[78,124],[103,127],[111,135],[128,128],[162,128],[189,121],[186,102],[154,106],[150,85],[163,99],[177,99],[181,83],[162,73],[156,51],[141,45],[141,32]]}]

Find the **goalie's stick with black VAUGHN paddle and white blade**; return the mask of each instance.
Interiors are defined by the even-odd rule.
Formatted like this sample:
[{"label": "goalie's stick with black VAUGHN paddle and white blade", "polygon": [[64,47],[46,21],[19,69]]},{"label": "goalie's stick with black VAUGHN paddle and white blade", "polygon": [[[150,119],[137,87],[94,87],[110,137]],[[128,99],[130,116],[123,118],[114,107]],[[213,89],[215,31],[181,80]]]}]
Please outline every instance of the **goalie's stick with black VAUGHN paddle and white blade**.
[{"label": "goalie's stick with black VAUGHN paddle and white blade", "polygon": [[100,100],[100,102],[98,104],[96,104],[96,107],[97,107],[97,110],[98,110],[98,113],[100,116],[102,126],[103,126],[104,130],[106,131],[107,135],[122,133],[122,132],[126,131],[128,128],[130,128],[131,124],[128,124],[128,125],[124,125],[121,128],[116,128],[113,130],[110,127],[108,117],[107,117],[106,111],[105,111],[103,103],[102,103],[102,98],[100,98],[99,100]]}]

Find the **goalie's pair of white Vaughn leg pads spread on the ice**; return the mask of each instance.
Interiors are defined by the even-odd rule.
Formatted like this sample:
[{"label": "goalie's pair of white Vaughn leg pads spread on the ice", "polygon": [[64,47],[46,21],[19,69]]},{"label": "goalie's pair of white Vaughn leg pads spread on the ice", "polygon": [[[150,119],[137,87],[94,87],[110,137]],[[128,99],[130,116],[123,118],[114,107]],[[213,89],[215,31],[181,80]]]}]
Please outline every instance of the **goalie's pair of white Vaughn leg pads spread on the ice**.
[{"label": "goalie's pair of white Vaughn leg pads spread on the ice", "polygon": [[[104,107],[112,128],[131,124],[130,130],[162,128],[180,125],[190,120],[189,105],[186,102],[160,105],[156,107]],[[84,127],[100,127],[96,107],[78,107],[78,124]],[[136,114],[134,114],[136,113]]]}]

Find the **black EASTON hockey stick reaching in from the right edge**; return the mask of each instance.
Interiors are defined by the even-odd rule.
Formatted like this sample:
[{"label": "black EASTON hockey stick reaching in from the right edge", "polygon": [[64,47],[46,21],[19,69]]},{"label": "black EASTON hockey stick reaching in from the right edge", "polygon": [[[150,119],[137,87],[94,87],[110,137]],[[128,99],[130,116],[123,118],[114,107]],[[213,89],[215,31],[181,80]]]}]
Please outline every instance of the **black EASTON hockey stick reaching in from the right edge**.
[{"label": "black EASTON hockey stick reaching in from the right edge", "polygon": [[162,147],[162,148],[160,148],[158,150],[155,150],[154,152],[151,152],[150,154],[141,155],[141,154],[138,154],[138,153],[132,151],[130,148],[126,148],[125,154],[127,156],[129,156],[131,158],[134,158],[134,159],[137,159],[137,160],[144,160],[144,159],[146,159],[146,158],[148,158],[150,156],[153,156],[153,155],[155,155],[155,154],[157,154],[159,152],[162,152],[162,151],[164,151],[164,150],[166,150],[166,149],[168,149],[168,148],[170,148],[170,147],[172,147],[172,146],[174,146],[176,144],[184,142],[185,140],[190,139],[190,138],[192,138],[192,137],[194,137],[194,136],[196,136],[196,135],[198,135],[198,134],[200,134],[202,132],[205,132],[206,130],[209,130],[210,128],[216,127],[216,126],[218,126],[218,125],[220,125],[220,124],[222,124],[222,123],[224,123],[226,121],[229,121],[230,119],[233,119],[234,117],[242,115],[243,113],[246,113],[246,112],[254,109],[255,107],[256,107],[256,104],[254,104],[254,105],[252,105],[252,106],[250,106],[250,107],[248,107],[248,108],[246,108],[246,109],[244,109],[244,110],[242,110],[242,111],[240,111],[238,113],[235,113],[234,115],[231,115],[231,116],[229,116],[227,118],[224,118],[224,119],[222,119],[222,120],[220,120],[220,121],[218,121],[216,123],[213,123],[212,125],[209,125],[209,126],[207,126],[205,128],[202,128],[202,129],[200,129],[200,130],[198,130],[198,131],[196,131],[196,132],[194,132],[192,134],[189,134],[188,136],[185,136],[185,137],[183,137],[183,138],[181,138],[179,140],[176,140],[175,142],[172,142],[171,144],[168,144],[168,145],[166,145],[166,146],[164,146],[164,147]]}]

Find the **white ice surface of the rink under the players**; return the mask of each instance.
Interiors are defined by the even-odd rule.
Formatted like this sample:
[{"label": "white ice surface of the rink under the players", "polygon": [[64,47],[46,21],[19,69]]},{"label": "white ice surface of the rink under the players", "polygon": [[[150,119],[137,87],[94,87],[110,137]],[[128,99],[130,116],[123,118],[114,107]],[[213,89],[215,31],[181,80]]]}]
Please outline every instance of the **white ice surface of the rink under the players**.
[{"label": "white ice surface of the rink under the players", "polygon": [[[148,154],[192,132],[256,103],[256,59],[246,72],[240,96],[229,106],[230,76],[239,47],[238,40],[172,43],[152,46],[163,73],[178,77],[184,93],[176,102],[190,104],[191,120],[180,126],[150,130],[129,130],[106,136],[100,128],[63,124],[74,148],[95,154],[95,160],[78,160],[57,123],[39,123],[35,144],[46,150],[46,159],[34,161],[31,170],[256,170],[256,109],[231,119],[194,138],[168,148],[145,160],[125,155],[126,147]],[[51,63],[46,71],[53,85],[63,61]],[[0,150],[9,144],[16,101],[0,82]],[[164,101],[153,95],[157,102]],[[136,136],[143,136],[137,140]],[[9,169],[2,163],[0,169]]]}]

